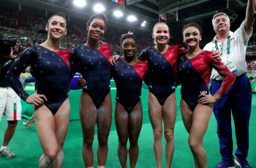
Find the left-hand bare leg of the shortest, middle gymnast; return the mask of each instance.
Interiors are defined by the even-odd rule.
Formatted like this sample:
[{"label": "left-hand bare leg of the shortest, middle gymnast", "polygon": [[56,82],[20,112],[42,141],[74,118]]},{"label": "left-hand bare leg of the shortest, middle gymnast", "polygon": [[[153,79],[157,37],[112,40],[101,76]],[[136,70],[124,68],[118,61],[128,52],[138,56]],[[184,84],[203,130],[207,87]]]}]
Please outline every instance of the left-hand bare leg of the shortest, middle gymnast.
[{"label": "left-hand bare leg of the shortest, middle gymnast", "polygon": [[119,141],[117,154],[122,168],[126,168],[128,152],[126,145],[129,135],[129,113],[117,101],[115,101],[115,104],[115,123]]}]

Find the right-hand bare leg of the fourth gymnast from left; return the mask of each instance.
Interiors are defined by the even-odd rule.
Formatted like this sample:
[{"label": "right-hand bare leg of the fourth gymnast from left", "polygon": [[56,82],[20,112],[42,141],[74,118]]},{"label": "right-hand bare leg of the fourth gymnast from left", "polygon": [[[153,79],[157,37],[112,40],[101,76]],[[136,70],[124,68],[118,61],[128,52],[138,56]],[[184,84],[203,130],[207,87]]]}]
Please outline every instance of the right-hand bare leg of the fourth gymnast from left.
[{"label": "right-hand bare leg of the fourth gymnast from left", "polygon": [[164,137],[166,168],[172,165],[174,156],[174,126],[176,122],[177,107],[176,93],[171,94],[164,102],[162,107],[163,122],[164,122]]}]

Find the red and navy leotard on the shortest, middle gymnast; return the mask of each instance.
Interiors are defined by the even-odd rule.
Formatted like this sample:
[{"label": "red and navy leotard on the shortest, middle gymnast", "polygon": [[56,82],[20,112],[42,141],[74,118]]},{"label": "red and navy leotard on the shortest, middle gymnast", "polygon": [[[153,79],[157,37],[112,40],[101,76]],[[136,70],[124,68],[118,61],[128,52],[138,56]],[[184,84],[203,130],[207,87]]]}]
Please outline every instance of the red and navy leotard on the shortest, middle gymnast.
[{"label": "red and navy leotard on the shortest, middle gymnast", "polygon": [[111,77],[116,83],[116,101],[119,102],[127,112],[131,112],[140,101],[142,81],[147,72],[147,63],[140,61],[135,65],[127,64],[121,59],[111,66]]}]

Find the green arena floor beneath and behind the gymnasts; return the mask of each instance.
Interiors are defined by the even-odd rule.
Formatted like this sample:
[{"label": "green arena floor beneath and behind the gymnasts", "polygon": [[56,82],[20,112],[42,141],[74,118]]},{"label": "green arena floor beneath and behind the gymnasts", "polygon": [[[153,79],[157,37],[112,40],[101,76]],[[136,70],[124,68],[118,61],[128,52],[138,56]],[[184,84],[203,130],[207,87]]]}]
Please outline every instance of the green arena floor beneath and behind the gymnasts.
[{"label": "green arena floor beneath and behind the gymnasts", "polygon": [[[179,100],[177,100],[178,102]],[[144,107],[147,108],[147,107]],[[7,127],[6,116],[0,122],[0,145],[2,145],[4,132]],[[16,154],[14,158],[0,157],[0,167],[18,167],[18,168],[34,168],[38,167],[38,161],[42,155],[42,149],[37,138],[36,128],[33,125],[30,129],[23,126],[23,122],[27,119],[18,121],[18,125],[12,140],[9,143],[10,150]],[[249,154],[247,157],[251,167],[256,167],[256,94],[252,94],[252,108],[249,127]],[[236,134],[234,132],[234,124],[232,121],[233,130],[233,156],[237,149]],[[195,167],[193,155],[188,147],[188,133],[182,122],[180,107],[177,106],[177,119],[175,125],[175,152],[172,167]],[[165,139],[162,138],[163,154],[162,166],[165,167]],[[95,128],[94,137],[94,167],[97,167],[97,131]],[[109,136],[109,154],[106,160],[106,167],[121,167],[117,156],[118,137],[115,128],[113,116],[111,132]],[[214,114],[212,113],[208,130],[204,136],[203,147],[207,153],[207,167],[214,167],[221,161],[219,153],[219,138],[217,135],[217,123]],[[129,148],[129,143],[127,144]],[[62,167],[84,167],[82,159],[82,130],[80,121],[71,121],[69,125],[68,135],[64,145],[65,159]],[[143,126],[139,137],[139,158],[136,167],[156,167],[156,161],[153,153],[153,132],[148,118],[147,111],[143,111]],[[128,155],[129,157],[129,155]],[[130,167],[129,158],[127,159],[127,167]],[[236,165],[236,168],[239,166]]]}]

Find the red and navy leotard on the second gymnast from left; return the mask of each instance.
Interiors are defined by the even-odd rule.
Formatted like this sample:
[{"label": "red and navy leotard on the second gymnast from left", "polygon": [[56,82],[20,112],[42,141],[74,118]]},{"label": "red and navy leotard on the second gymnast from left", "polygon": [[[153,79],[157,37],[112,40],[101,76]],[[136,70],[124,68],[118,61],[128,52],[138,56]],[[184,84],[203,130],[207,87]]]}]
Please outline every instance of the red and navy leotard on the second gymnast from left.
[{"label": "red and navy leotard on the second gymnast from left", "polygon": [[74,47],[70,55],[70,81],[76,72],[86,80],[82,91],[90,95],[98,109],[110,92],[110,46],[101,44],[99,50],[86,45]]}]

